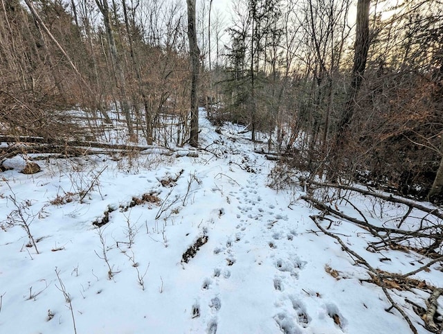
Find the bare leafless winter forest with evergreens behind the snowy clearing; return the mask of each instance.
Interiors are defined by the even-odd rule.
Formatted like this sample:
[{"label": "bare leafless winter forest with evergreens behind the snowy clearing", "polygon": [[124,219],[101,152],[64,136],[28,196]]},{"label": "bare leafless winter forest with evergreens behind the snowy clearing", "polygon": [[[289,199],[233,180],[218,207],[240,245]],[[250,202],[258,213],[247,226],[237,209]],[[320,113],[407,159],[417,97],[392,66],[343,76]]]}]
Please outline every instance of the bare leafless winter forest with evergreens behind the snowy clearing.
[{"label": "bare leafless winter forest with evergreens behind the snowy clearing", "polygon": [[1,0],[0,162],[103,143],[113,111],[125,144],[198,146],[205,107],[282,175],[441,202],[441,1],[213,2]]}]

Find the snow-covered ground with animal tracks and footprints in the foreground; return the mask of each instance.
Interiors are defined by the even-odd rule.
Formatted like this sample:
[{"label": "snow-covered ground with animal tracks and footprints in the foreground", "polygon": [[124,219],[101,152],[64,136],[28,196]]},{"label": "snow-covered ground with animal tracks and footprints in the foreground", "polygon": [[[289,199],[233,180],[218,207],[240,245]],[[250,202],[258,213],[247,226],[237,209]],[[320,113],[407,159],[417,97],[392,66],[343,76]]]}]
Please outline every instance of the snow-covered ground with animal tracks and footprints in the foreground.
[{"label": "snow-covered ground with animal tracks and footprints in the foreground", "polygon": [[[300,200],[302,188],[269,188],[275,163],[235,125],[217,134],[201,118],[201,127],[198,157],[183,148],[47,159],[34,175],[19,173],[23,159],[6,161],[14,169],[0,175],[0,333],[410,333],[385,310],[381,288],[361,281],[365,267],[309,218],[318,210]],[[368,217],[376,205],[353,202]],[[329,231],[381,270],[429,261],[368,252],[372,235],[347,221]],[[439,263],[414,277],[443,285]],[[405,301],[426,308],[429,294],[391,295],[429,333]]]}]

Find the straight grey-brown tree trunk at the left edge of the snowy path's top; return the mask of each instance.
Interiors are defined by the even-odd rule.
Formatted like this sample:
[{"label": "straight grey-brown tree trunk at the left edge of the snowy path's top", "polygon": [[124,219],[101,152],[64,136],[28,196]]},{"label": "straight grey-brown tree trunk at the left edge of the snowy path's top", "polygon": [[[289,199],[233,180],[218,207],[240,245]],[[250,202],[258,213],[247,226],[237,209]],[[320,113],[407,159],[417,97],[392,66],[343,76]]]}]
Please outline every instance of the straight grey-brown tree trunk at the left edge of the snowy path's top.
[{"label": "straight grey-brown tree trunk at the left edge of the snowy path's top", "polygon": [[197,45],[197,29],[195,25],[195,0],[186,0],[188,4],[188,39],[190,50],[190,62],[192,67],[191,86],[191,128],[190,144],[199,145],[199,58],[200,50]]}]

